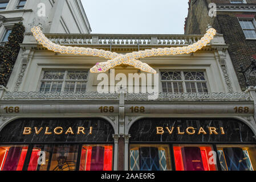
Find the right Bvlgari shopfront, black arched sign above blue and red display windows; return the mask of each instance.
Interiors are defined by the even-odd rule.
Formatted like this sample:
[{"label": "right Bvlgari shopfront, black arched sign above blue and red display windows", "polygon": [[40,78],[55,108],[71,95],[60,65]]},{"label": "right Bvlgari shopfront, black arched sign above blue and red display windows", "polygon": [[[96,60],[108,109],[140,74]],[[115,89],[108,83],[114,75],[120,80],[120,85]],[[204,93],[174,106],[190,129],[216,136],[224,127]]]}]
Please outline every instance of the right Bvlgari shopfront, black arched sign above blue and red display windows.
[{"label": "right Bvlgari shopfront, black arched sign above blue and red display windows", "polygon": [[255,171],[253,131],[232,118],[144,118],[129,129],[130,171]]}]

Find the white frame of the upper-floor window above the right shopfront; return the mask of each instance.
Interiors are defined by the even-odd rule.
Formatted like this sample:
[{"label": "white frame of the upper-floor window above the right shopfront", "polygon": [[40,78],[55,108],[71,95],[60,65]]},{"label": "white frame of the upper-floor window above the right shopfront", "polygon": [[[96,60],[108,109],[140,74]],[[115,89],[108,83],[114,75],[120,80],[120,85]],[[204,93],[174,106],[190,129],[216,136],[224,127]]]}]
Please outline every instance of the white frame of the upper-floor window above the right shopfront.
[{"label": "white frame of the upper-floor window above the right shopfront", "polygon": [[[207,90],[208,92],[207,93],[210,93],[210,85],[209,85],[209,80],[208,80],[208,77],[207,77],[207,74],[206,74],[206,71],[205,70],[191,70],[191,69],[161,69],[160,71],[160,82],[161,82],[161,91],[164,92],[162,90],[162,82],[182,82],[182,86],[183,86],[183,92],[184,93],[190,93],[190,92],[187,92],[186,91],[186,82],[205,82],[206,83],[206,86],[207,86]],[[181,72],[181,80],[162,80],[162,72]],[[184,75],[184,72],[202,72],[204,73],[204,78],[205,80],[185,80],[185,75]],[[197,92],[194,92],[194,93],[198,93],[198,88],[197,88],[197,84],[196,85],[196,89],[197,89]],[[173,86],[172,86],[172,90],[173,90]],[[201,92],[201,93],[206,93],[206,92]]]}]

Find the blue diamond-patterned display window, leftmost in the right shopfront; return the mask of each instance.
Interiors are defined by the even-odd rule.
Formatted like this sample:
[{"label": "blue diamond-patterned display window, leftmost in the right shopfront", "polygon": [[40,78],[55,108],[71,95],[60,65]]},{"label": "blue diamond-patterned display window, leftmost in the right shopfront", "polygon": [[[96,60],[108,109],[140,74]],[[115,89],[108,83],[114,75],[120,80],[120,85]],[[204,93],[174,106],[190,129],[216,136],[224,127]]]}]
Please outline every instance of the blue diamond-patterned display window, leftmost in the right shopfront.
[{"label": "blue diamond-patterned display window, leftmost in the right shopfront", "polygon": [[131,144],[131,171],[171,171],[170,150],[168,144]]}]

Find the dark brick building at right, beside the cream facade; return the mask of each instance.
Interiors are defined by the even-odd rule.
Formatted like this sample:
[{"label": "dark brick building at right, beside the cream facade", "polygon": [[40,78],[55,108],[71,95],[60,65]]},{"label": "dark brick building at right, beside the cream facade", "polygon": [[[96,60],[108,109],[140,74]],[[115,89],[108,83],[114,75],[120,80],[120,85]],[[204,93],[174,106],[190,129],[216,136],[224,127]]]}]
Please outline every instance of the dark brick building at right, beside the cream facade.
[{"label": "dark brick building at right, beside the cream facade", "polygon": [[[216,15],[211,15],[215,7],[210,3],[216,4]],[[256,0],[189,0],[188,18],[185,21],[185,34],[204,34],[210,24],[224,35],[242,90],[246,89],[246,78],[239,72],[240,64],[247,68],[251,64],[251,57],[256,59],[255,15]],[[256,85],[256,78],[249,76],[251,68],[245,73],[247,86]]]}]

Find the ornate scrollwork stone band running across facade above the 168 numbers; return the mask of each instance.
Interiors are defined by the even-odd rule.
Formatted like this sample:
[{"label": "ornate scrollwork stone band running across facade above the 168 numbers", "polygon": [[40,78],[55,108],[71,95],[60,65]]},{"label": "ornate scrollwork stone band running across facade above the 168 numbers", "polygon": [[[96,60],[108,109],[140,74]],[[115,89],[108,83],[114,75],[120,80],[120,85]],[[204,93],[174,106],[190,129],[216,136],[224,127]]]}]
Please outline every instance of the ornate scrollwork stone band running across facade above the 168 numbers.
[{"label": "ornate scrollwork stone band running across facade above the 168 numbers", "polygon": [[[149,101],[150,93],[126,93],[124,101]],[[5,92],[2,100],[104,100],[120,101],[119,93],[97,92]],[[249,92],[233,93],[159,93],[153,101],[251,101]],[[120,108],[124,109],[123,102]],[[120,116],[124,117],[123,113]]]}]

